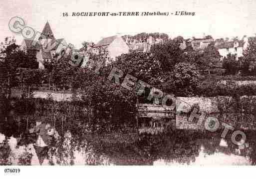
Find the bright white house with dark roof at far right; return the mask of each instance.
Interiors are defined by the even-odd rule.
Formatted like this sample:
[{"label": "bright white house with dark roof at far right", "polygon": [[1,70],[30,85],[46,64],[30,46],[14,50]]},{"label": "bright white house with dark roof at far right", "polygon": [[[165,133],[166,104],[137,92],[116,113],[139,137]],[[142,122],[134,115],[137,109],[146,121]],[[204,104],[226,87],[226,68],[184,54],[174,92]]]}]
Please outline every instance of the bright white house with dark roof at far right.
[{"label": "bright white house with dark roof at far right", "polygon": [[236,55],[236,59],[243,56],[243,51],[247,49],[249,43],[247,36],[244,36],[243,40],[221,41],[216,42],[215,47],[218,49],[221,59],[227,57],[228,54]]}]

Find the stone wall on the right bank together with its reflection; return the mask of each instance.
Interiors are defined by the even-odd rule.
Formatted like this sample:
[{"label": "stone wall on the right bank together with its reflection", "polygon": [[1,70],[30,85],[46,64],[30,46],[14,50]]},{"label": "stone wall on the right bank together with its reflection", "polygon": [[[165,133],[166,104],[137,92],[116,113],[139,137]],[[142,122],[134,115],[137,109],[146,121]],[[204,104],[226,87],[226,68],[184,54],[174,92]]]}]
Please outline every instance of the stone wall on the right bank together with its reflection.
[{"label": "stone wall on the right bank together with its reflection", "polygon": [[[203,122],[198,125],[198,118],[189,122],[191,111],[199,107],[198,115],[202,115]],[[242,96],[240,102],[229,96],[212,98],[177,97],[176,129],[203,130],[205,120],[215,117],[222,123],[229,124],[236,129],[256,130],[256,96]]]}]

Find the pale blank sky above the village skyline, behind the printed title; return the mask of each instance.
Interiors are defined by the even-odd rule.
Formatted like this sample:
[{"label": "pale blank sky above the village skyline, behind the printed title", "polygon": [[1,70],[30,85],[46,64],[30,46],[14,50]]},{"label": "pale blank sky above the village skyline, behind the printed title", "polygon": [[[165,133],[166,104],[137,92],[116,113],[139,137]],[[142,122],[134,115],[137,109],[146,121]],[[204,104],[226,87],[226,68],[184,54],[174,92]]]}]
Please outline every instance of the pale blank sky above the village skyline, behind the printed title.
[{"label": "pale blank sky above the village skyline, behind the printed title", "polygon": [[[195,11],[195,16],[71,16],[72,12]],[[62,13],[68,12],[68,17]],[[48,20],[55,38],[65,38],[76,48],[82,41],[98,42],[117,33],[164,32],[174,38],[182,35],[214,38],[255,35],[256,0],[1,0],[0,41],[15,36],[9,19],[19,16],[25,25],[42,31]]]}]

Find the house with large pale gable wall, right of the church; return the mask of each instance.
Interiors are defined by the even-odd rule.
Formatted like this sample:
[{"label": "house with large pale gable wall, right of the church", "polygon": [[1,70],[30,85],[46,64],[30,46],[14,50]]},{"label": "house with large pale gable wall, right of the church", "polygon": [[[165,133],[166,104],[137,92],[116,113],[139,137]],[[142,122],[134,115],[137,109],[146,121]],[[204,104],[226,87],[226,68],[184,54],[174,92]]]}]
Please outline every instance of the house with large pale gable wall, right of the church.
[{"label": "house with large pale gable wall, right of the church", "polygon": [[107,54],[108,60],[106,63],[115,61],[117,56],[129,53],[129,46],[125,43],[122,37],[115,35],[102,38],[96,45],[87,50],[91,54]]}]

